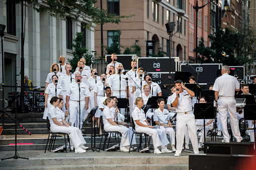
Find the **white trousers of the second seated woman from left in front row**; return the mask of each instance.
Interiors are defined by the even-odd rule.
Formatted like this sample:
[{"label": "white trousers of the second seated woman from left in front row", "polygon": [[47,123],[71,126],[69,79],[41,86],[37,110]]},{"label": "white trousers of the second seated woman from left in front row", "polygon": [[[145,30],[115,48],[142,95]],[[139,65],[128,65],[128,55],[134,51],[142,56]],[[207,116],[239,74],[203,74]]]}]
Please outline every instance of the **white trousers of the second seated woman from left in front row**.
[{"label": "white trousers of the second seated woman from left in front row", "polygon": [[129,142],[129,140],[130,140],[129,139],[130,130],[127,127],[114,126],[114,125],[110,125],[110,126],[104,125],[104,130],[106,130],[106,131],[118,131],[118,132],[122,133],[120,147],[130,145],[130,142]]}]

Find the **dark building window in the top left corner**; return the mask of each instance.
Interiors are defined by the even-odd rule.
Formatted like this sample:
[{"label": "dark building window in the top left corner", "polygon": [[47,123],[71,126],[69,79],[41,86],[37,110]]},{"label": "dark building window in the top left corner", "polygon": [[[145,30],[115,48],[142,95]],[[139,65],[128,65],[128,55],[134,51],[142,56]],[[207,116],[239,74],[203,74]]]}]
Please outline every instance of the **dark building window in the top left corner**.
[{"label": "dark building window in the top left corner", "polygon": [[3,1],[3,18],[6,26],[5,32],[16,36],[16,9],[15,1]]}]

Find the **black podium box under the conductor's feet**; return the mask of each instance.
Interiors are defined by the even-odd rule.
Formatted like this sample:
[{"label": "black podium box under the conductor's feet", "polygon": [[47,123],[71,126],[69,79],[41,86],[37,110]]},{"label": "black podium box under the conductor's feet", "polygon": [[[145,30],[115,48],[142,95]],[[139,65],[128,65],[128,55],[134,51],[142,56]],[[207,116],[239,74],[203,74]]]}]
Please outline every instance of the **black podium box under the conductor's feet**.
[{"label": "black podium box under the conductor's feet", "polygon": [[[228,149],[225,147],[231,147],[231,154],[250,154],[254,152],[254,142],[235,142],[230,141],[224,143],[221,141],[207,141],[204,142],[204,153],[208,154],[226,154]],[[208,149],[207,149],[208,148]],[[222,149],[221,149],[222,148]]]}]

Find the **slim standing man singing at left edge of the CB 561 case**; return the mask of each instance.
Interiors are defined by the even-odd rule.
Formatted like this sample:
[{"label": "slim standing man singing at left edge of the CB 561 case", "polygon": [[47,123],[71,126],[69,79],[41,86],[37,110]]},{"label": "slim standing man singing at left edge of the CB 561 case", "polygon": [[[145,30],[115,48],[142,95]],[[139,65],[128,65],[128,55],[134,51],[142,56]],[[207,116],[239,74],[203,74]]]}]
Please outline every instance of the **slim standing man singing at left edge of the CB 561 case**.
[{"label": "slim standing man singing at left edge of the CB 561 case", "polygon": [[[129,106],[130,106],[130,115],[132,115],[132,111],[133,111],[133,97],[134,94],[132,94],[132,83],[134,81],[134,79],[136,78],[136,76],[138,76],[137,72],[137,62],[135,60],[132,61],[131,63],[132,69],[129,70],[128,72],[126,72],[126,76],[128,77],[128,81],[129,81]],[[136,67],[136,69],[135,69]],[[136,76],[135,76],[136,75]]]}]

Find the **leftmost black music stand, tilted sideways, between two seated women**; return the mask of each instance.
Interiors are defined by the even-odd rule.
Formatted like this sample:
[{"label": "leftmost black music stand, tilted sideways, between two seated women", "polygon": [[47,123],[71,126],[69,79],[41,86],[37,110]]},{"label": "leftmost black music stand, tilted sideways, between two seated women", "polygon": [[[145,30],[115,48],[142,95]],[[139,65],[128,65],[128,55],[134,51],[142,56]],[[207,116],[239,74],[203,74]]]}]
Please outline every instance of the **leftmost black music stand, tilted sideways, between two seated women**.
[{"label": "leftmost black music stand, tilted sideways, between two seated women", "polygon": [[[88,114],[87,118],[84,119],[83,122],[91,122],[91,148],[87,149],[87,150],[93,150],[93,151],[97,151],[100,152],[100,149],[97,150],[96,147],[96,129],[95,129],[95,120],[94,120],[94,146],[93,146],[93,117],[95,115],[95,113],[97,112],[99,106],[96,106],[95,108],[93,108],[90,113]],[[94,118],[95,119],[95,118]]]}]

